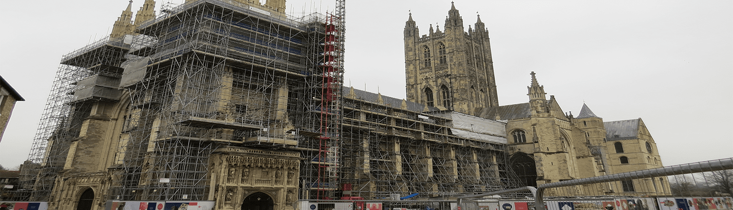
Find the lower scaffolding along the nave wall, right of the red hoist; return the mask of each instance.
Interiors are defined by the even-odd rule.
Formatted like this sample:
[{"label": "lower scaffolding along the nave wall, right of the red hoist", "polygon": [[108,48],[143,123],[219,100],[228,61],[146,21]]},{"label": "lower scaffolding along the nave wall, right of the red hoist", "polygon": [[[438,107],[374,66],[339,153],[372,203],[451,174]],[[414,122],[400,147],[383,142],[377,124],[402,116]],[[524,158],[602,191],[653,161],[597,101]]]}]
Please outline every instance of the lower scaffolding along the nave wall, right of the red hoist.
[{"label": "lower scaffolding along the nave wall, right of the red hoist", "polygon": [[465,138],[455,135],[454,125],[455,115],[463,114],[367,91],[344,92],[344,196],[433,198],[520,186],[507,168],[506,143],[490,140],[502,139],[498,132]]}]

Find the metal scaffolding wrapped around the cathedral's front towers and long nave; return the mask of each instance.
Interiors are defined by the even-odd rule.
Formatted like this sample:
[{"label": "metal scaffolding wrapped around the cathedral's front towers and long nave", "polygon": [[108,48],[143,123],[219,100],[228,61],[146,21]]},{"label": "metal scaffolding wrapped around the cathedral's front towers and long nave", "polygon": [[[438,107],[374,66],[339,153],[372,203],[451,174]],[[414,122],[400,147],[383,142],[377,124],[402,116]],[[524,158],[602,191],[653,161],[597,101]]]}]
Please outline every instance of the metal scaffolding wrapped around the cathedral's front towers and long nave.
[{"label": "metal scaffolding wrapped around the cathedral's front towers and long nave", "polygon": [[337,4],[301,18],[237,1],[165,4],[136,34],[64,56],[22,187],[49,199],[100,103],[125,106],[109,200],[209,200],[209,157],[230,146],[300,152],[300,199],[517,187],[505,144],[457,135],[437,108],[343,86]]}]

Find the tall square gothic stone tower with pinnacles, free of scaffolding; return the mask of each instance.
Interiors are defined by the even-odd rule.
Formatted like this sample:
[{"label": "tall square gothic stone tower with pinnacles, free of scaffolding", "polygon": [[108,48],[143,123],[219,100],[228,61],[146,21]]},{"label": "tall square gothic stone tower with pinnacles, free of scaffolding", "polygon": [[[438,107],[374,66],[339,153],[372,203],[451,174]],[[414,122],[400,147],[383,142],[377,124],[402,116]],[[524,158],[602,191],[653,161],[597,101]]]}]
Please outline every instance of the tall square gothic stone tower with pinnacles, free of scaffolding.
[{"label": "tall square gothic stone tower with pinnacles, free of scaffolding", "polygon": [[455,5],[448,11],[444,32],[430,25],[419,35],[410,13],[405,23],[405,75],[410,102],[475,115],[498,106],[489,33],[478,17],[475,30],[463,28]]}]

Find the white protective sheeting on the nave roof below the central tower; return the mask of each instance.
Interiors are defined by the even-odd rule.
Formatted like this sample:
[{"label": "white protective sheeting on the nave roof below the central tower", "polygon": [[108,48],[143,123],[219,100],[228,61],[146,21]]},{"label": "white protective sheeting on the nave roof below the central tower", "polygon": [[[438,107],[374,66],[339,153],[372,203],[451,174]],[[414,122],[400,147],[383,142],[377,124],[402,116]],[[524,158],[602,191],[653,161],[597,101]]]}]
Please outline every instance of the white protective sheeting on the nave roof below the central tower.
[{"label": "white protective sheeting on the nave roof below the central tower", "polygon": [[438,113],[452,119],[449,123],[453,135],[493,143],[507,143],[507,123],[471,116],[465,113]]}]

